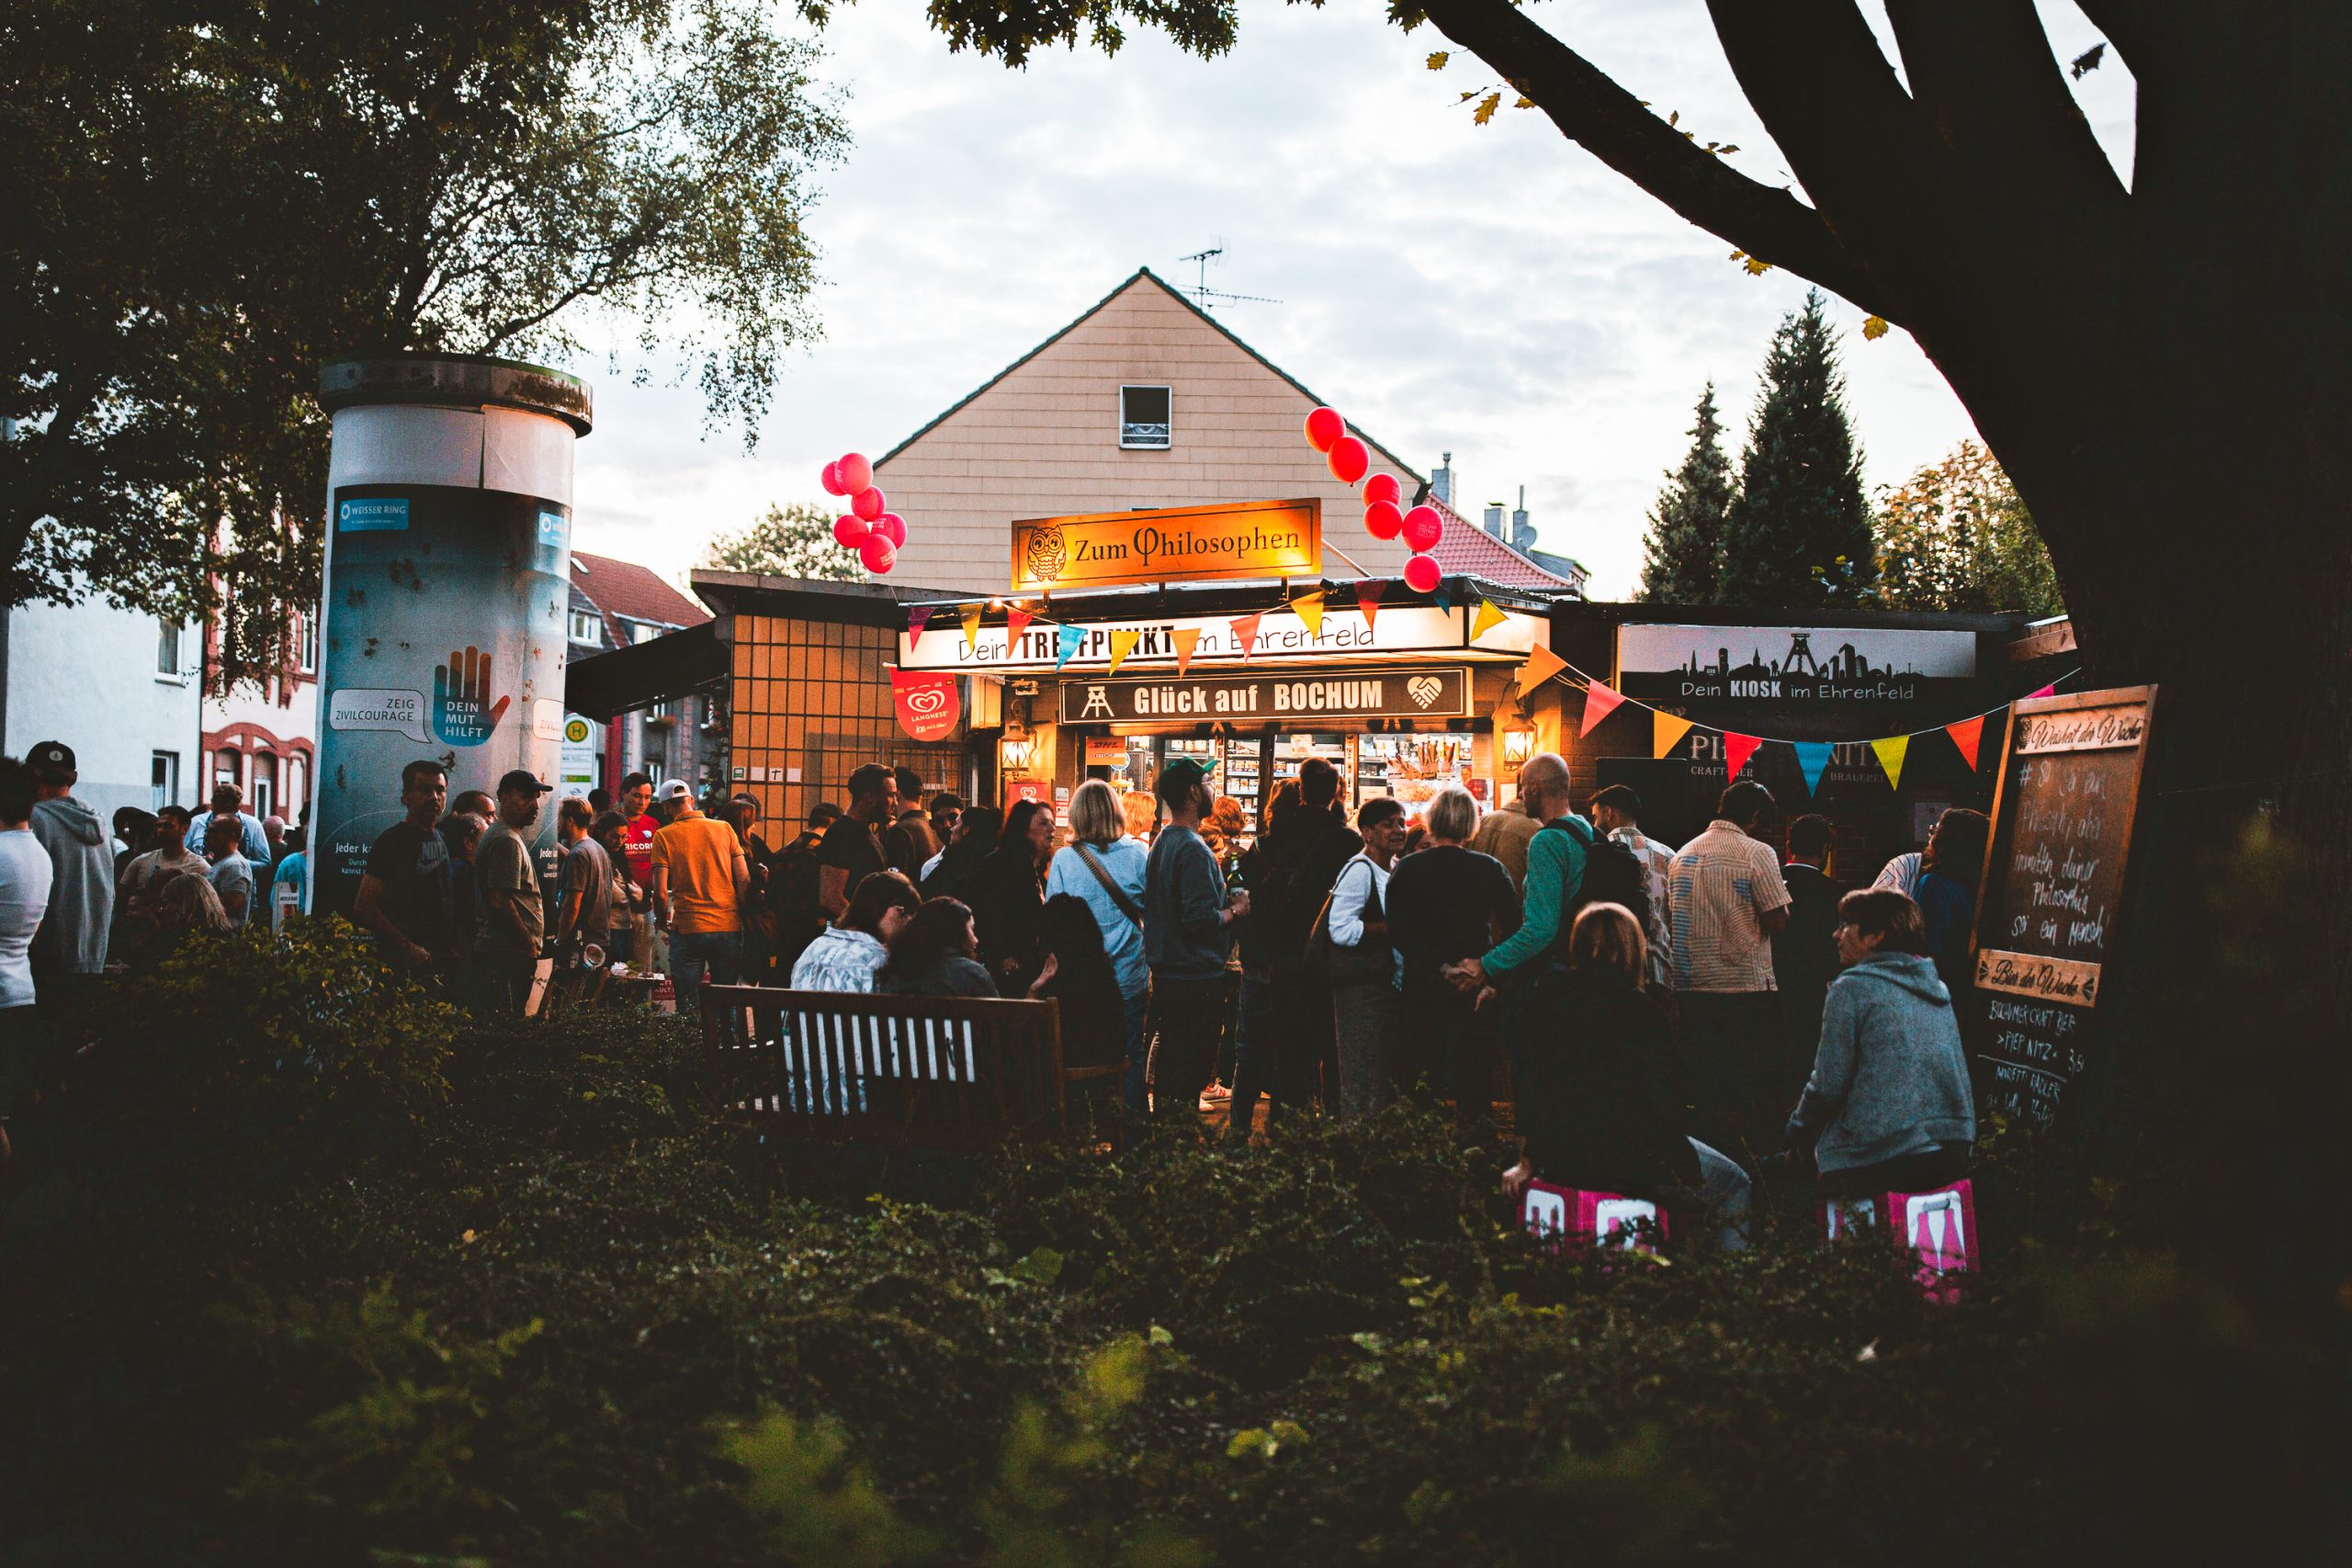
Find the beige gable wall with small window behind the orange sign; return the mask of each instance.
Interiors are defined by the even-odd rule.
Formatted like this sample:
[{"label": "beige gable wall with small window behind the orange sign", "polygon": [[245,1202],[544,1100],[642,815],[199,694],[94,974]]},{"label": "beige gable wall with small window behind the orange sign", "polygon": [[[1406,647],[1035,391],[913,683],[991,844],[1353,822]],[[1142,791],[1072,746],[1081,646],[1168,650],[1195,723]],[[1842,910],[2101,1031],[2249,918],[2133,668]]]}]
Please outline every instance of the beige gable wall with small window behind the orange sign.
[{"label": "beige gable wall with small window behind the orange sign", "polygon": [[[1171,447],[1120,447],[1120,386],[1171,388]],[[1016,517],[1218,501],[1324,503],[1324,574],[1404,571],[1303,430],[1315,404],[1152,277],[1136,277],[1033,360],[875,468],[906,517],[894,583],[1007,592]],[[1345,407],[1341,409],[1345,414]],[[1414,480],[1374,447],[1371,473]]]}]

